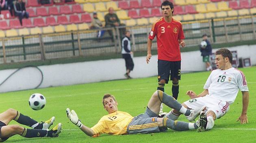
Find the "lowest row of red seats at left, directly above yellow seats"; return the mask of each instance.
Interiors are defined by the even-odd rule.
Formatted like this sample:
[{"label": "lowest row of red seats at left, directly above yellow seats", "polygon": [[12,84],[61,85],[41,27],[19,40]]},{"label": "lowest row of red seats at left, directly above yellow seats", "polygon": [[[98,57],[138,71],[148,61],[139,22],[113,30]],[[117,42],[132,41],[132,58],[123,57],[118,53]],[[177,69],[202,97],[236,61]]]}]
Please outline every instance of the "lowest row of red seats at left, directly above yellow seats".
[{"label": "lowest row of red seats at left, directly above yellow seats", "polygon": [[7,21],[0,21],[0,29],[7,30],[12,28],[22,28],[22,27],[44,27],[44,26],[54,26],[54,25],[66,25],[71,23],[90,23],[91,22],[91,16],[87,14],[82,14],[81,18],[79,18],[78,15],[70,15],[69,20],[66,16],[58,16],[57,21],[54,17],[46,17],[46,22],[43,18],[34,18],[33,23],[30,18],[28,19],[22,19],[22,25],[20,25],[19,19],[10,19],[9,25],[7,24]]}]

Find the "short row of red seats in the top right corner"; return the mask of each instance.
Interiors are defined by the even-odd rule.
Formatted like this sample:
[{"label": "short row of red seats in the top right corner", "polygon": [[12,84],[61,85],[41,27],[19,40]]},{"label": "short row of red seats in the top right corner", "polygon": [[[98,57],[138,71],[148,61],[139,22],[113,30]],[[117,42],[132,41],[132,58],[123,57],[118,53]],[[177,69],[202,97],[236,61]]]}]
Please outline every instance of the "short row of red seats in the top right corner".
[{"label": "short row of red seats in the top right corner", "polygon": [[256,7],[256,0],[251,0],[251,3],[249,3],[248,0],[238,0],[239,1],[239,5],[237,3],[237,1],[229,1],[229,7],[232,9],[243,9],[243,8],[252,8],[252,7]]}]

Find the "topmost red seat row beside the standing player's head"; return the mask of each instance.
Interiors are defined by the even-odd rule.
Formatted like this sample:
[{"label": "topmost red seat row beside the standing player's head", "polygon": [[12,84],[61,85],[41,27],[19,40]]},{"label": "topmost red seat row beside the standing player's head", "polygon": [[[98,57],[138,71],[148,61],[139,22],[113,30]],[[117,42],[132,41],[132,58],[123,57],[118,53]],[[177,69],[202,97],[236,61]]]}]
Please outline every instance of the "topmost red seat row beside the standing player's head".
[{"label": "topmost red seat row beside the standing player's head", "polygon": [[[170,0],[174,2],[174,0]],[[122,9],[132,9],[132,8],[150,8],[150,7],[160,7],[162,4],[162,0],[153,0],[151,3],[150,0],[141,0],[141,4],[139,4],[138,0],[130,0],[129,5],[127,0],[119,1],[118,7]]]}]

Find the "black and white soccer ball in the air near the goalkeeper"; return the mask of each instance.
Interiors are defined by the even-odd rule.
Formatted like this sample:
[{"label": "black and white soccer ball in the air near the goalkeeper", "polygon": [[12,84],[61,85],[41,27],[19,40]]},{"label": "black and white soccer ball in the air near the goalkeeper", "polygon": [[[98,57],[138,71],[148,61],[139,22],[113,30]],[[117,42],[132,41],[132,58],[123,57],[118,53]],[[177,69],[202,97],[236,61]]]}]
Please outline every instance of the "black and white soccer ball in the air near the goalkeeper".
[{"label": "black and white soccer ball in the air near the goalkeeper", "polygon": [[46,98],[40,93],[34,93],[30,96],[28,104],[33,110],[41,110],[46,105]]}]

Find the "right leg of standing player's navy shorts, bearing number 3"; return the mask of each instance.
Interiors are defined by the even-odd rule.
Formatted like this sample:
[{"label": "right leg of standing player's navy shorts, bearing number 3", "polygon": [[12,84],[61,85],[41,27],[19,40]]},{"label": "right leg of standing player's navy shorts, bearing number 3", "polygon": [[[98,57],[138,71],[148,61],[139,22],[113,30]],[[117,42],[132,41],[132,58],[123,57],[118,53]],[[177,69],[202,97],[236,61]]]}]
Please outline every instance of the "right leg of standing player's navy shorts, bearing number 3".
[{"label": "right leg of standing player's navy shorts, bearing number 3", "polygon": [[180,80],[180,65],[181,65],[181,61],[170,61],[170,70],[171,70],[171,78],[170,80],[172,80],[173,78],[177,78],[178,80]]}]

